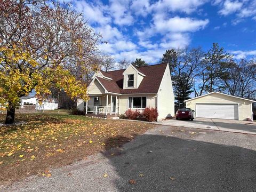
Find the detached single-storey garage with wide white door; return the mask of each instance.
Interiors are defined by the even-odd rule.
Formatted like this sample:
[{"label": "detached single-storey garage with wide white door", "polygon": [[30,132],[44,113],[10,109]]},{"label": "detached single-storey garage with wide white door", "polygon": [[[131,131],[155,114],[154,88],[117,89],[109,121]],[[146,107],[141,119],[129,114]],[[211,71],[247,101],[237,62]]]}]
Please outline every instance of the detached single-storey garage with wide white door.
[{"label": "detached single-storey garage with wide white door", "polygon": [[252,103],[255,101],[212,92],[185,102],[188,108],[195,110],[196,117],[243,121],[247,118],[252,119]]}]

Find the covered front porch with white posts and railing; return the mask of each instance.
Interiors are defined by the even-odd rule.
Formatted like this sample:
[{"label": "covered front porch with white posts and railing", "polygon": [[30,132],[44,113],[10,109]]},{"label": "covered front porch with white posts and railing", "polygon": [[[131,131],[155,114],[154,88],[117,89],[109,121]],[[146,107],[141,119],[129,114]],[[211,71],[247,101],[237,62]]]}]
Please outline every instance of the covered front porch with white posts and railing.
[{"label": "covered front porch with white posts and railing", "polygon": [[102,117],[108,115],[119,114],[120,96],[116,94],[94,94],[89,95],[90,100],[85,102],[85,114],[87,116],[100,115]]}]

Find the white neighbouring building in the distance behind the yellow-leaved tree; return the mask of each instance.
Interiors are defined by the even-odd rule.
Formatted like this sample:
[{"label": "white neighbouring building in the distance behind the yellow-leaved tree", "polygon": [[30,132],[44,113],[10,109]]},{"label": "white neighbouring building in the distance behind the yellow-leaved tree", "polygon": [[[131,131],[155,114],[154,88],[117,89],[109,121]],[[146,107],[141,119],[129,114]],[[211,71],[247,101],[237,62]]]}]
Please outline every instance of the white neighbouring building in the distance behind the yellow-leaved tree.
[{"label": "white neighbouring building in the distance behind the yellow-leaved tree", "polygon": [[38,99],[33,96],[21,97],[21,108],[26,105],[35,105],[36,110],[54,110],[58,109],[57,99],[47,99],[39,104]]}]

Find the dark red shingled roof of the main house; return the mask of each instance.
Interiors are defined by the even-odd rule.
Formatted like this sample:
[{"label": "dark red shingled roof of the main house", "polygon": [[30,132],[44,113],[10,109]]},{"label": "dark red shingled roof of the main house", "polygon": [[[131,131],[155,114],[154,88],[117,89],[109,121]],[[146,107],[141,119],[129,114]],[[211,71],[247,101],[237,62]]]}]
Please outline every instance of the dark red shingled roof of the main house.
[{"label": "dark red shingled roof of the main house", "polygon": [[[109,92],[121,93],[121,94],[134,94],[134,93],[157,93],[159,86],[161,84],[164,71],[166,69],[167,63],[150,65],[144,67],[136,67],[142,74],[146,75],[143,77],[142,82],[140,83],[138,89],[123,89],[124,76],[123,73],[125,69],[114,70],[104,72],[106,77],[113,78],[109,81],[97,77],[100,83],[107,89]],[[108,76],[107,76],[108,75]]]}]

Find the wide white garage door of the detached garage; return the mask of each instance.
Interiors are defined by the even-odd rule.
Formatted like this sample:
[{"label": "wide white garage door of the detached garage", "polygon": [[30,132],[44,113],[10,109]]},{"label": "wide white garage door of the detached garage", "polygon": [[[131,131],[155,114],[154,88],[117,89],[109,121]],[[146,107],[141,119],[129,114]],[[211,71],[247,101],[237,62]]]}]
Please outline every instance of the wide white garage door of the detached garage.
[{"label": "wide white garage door of the detached garage", "polygon": [[237,119],[237,104],[196,104],[196,117]]}]

